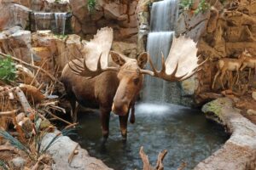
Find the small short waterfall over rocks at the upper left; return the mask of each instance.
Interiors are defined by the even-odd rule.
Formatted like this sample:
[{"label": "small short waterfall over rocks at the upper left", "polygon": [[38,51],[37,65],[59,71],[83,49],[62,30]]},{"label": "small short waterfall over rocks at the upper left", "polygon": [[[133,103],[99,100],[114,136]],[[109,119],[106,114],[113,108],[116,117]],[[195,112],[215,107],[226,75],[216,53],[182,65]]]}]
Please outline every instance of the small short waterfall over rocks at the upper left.
[{"label": "small short waterfall over rocks at the upper left", "polygon": [[52,30],[58,34],[65,34],[67,13],[33,13],[35,20],[35,29]]}]

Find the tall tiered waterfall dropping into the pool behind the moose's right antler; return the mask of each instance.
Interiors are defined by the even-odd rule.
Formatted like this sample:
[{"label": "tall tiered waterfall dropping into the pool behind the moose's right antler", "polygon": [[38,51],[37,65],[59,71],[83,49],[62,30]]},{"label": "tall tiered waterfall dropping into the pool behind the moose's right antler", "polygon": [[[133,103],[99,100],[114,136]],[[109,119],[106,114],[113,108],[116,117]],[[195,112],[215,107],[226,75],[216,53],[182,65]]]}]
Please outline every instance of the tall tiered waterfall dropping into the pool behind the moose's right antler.
[{"label": "tall tiered waterfall dropping into the pool behind the moose's right antler", "polygon": [[[177,12],[177,0],[164,0],[152,5],[151,32],[148,34],[147,51],[158,70],[161,68],[161,53],[166,58],[172,45]],[[147,65],[147,68],[150,68],[150,66]],[[177,103],[175,102],[179,97],[176,92],[178,88],[177,82],[166,82],[159,78],[146,76],[144,87],[143,99],[146,101]]]}]

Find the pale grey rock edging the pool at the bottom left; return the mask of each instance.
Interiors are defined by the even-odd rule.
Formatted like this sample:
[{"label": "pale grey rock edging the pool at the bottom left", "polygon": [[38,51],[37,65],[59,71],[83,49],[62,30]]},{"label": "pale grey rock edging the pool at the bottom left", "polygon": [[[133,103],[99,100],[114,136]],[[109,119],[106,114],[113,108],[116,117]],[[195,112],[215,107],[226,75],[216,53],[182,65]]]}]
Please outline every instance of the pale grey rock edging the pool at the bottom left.
[{"label": "pale grey rock edging the pool at the bottom left", "polygon": [[[49,141],[55,137],[55,133],[48,133],[44,136],[42,141],[42,148],[44,148]],[[68,163],[68,157],[76,148],[78,143],[73,142],[66,136],[61,136],[55,141],[55,143],[47,150],[47,153],[53,157],[55,163],[53,164],[53,169],[61,170],[73,170],[73,169],[88,169],[88,170],[110,170],[101,160],[94,157],[90,157],[88,152],[78,147],[78,155],[73,157],[72,162]],[[65,150],[63,150],[65,148]]]}]

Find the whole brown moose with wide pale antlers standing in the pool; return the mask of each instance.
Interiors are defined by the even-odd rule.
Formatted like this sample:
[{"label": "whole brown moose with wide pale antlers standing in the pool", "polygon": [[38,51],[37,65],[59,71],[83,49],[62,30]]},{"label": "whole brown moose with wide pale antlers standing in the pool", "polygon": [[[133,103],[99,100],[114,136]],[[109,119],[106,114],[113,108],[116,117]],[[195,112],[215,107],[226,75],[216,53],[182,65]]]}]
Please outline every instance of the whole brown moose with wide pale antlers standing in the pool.
[{"label": "whole brown moose with wide pale antlers standing in the pool", "polygon": [[[137,59],[110,51],[113,42],[112,28],[102,28],[94,39],[80,50],[81,57],[72,59],[61,75],[72,107],[73,122],[77,122],[77,102],[85,107],[99,107],[102,135],[108,139],[110,112],[119,116],[119,126],[124,140],[127,122],[135,122],[135,102],[143,88],[144,75],[170,82],[183,81],[198,71],[196,43],[188,37],[174,38],[166,61],[162,55],[162,68],[157,71],[149,54]],[[149,61],[152,71],[144,70]]]}]

